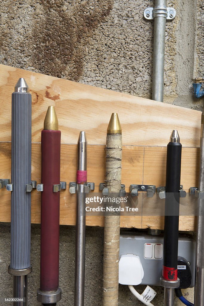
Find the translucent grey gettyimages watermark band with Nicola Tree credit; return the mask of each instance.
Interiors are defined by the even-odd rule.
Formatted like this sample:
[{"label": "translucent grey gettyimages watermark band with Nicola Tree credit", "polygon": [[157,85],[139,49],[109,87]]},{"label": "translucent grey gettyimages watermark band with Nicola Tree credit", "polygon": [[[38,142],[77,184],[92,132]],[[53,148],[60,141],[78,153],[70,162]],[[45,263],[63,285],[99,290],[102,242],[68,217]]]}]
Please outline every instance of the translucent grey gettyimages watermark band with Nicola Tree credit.
[{"label": "translucent grey gettyimages watermark band with Nicola Tree credit", "polygon": [[[173,194],[176,198],[176,193]],[[165,210],[165,199],[160,199],[157,193],[152,198],[147,197],[147,192],[141,192],[138,196],[126,193],[121,197],[117,193],[90,192],[86,194],[85,214],[87,216],[121,215],[121,216],[165,216],[177,215],[178,211]],[[180,216],[197,216],[197,198],[187,193],[185,198],[180,198]],[[204,215],[204,213],[203,213]]]}]

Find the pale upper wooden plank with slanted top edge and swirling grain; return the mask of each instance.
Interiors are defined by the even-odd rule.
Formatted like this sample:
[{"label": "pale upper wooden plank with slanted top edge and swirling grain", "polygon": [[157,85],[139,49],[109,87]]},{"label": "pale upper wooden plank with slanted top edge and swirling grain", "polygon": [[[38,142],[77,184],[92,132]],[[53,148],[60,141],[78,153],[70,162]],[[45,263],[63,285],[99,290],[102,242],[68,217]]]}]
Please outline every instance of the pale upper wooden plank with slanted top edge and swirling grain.
[{"label": "pale upper wooden plank with slanted top edge and swirling grain", "polygon": [[46,110],[56,108],[62,143],[76,144],[85,130],[89,144],[105,144],[112,112],[117,112],[124,145],[166,146],[178,129],[185,147],[199,147],[201,112],[119,92],[0,65],[0,141],[11,140],[11,93],[24,77],[32,94],[32,142],[40,142]]}]

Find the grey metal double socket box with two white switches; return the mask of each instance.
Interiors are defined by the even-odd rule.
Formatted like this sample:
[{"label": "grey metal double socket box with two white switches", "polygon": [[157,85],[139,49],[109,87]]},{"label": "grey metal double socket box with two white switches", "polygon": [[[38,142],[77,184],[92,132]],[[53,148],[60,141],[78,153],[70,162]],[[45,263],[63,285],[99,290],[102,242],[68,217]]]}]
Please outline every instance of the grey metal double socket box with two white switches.
[{"label": "grey metal double socket box with two white switches", "polygon": [[[120,236],[120,256],[133,254],[139,256],[144,277],[141,285],[159,286],[163,266],[163,237],[152,235],[131,235]],[[195,240],[185,235],[179,236],[178,257],[183,257],[191,270],[191,286],[195,283]],[[178,268],[183,269],[184,266]]]}]

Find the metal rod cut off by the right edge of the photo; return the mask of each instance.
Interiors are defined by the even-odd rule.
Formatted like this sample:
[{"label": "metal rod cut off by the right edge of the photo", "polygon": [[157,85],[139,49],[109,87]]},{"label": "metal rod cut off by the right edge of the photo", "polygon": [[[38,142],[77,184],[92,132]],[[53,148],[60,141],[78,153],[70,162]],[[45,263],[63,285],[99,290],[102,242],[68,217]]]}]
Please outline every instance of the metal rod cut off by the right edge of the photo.
[{"label": "metal rod cut off by the right edge of the photo", "polygon": [[[200,168],[198,190],[204,191],[204,111],[201,117],[200,136]],[[196,239],[196,271],[194,305],[204,304],[204,199],[198,198],[197,239]]]}]

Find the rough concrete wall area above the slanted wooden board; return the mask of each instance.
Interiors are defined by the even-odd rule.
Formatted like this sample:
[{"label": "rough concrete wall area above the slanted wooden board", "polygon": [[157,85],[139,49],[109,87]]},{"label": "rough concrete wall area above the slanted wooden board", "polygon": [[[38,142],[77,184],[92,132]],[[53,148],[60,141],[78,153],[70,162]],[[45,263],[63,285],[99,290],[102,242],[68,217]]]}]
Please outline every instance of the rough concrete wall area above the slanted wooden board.
[{"label": "rough concrete wall area above the slanted wooden board", "polygon": [[[192,78],[202,76],[203,1],[174,0],[166,26],[165,102],[200,108]],[[152,1],[5,0],[0,62],[116,91],[151,97]]]}]

